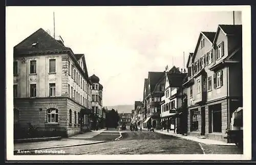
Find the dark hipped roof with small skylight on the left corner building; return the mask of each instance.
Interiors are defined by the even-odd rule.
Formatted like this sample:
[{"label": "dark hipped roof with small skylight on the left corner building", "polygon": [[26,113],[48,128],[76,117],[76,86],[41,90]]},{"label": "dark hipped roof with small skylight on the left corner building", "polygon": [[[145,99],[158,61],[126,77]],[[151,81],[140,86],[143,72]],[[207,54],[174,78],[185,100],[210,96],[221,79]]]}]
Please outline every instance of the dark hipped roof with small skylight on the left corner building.
[{"label": "dark hipped roof with small skylight on the left corner building", "polygon": [[[34,43],[37,43],[35,47],[32,46]],[[17,54],[52,50],[69,50],[42,28],[25,38],[13,49],[14,53]]]}]

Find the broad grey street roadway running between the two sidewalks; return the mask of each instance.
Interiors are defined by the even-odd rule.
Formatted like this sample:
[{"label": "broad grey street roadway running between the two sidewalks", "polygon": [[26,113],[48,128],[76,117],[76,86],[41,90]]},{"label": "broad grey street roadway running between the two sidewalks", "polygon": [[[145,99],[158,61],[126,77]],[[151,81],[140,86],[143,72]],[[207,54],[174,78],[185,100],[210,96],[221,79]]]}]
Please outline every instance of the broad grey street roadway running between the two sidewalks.
[{"label": "broad grey street roadway running between the two sidewalks", "polygon": [[109,129],[93,138],[86,139],[105,140],[106,142],[93,145],[56,148],[54,150],[65,151],[64,154],[68,155],[242,154],[242,151],[235,146],[204,145],[195,141],[145,130],[142,130],[141,132],[125,130],[121,131],[121,134],[122,138],[115,140],[120,136],[119,131],[117,129]]}]

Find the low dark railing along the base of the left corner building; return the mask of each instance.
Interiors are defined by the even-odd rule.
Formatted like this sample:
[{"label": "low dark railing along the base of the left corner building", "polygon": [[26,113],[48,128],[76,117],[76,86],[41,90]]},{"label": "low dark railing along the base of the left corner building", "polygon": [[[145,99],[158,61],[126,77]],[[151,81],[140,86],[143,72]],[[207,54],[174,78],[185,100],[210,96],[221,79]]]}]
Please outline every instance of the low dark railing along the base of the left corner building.
[{"label": "low dark railing along the base of the left corner building", "polygon": [[66,136],[64,127],[18,127],[14,125],[14,139]]}]

